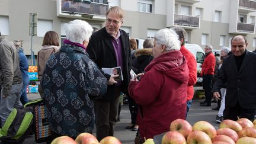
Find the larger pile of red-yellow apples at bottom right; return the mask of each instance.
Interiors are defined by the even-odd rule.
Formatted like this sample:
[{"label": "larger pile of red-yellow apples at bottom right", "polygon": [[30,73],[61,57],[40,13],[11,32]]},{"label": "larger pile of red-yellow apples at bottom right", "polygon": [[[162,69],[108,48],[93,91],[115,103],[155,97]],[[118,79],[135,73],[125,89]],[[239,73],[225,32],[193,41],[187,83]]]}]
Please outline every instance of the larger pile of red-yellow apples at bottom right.
[{"label": "larger pile of red-yellow apples at bottom right", "polygon": [[[256,144],[256,120],[242,118],[223,120],[219,129],[207,121],[197,121],[193,126],[186,120],[172,121],[170,131],[162,137],[162,144]],[[147,139],[143,144],[154,144]]]}]

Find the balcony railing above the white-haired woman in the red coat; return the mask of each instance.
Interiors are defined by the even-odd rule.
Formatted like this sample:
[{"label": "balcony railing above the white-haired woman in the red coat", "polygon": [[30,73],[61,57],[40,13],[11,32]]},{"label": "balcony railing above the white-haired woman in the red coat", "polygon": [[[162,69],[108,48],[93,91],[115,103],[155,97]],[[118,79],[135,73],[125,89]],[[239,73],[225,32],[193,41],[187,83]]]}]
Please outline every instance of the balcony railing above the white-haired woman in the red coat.
[{"label": "balcony railing above the white-haired woman in the red coat", "polygon": [[174,24],[184,25],[188,27],[199,27],[199,17],[192,17],[190,15],[174,14]]}]

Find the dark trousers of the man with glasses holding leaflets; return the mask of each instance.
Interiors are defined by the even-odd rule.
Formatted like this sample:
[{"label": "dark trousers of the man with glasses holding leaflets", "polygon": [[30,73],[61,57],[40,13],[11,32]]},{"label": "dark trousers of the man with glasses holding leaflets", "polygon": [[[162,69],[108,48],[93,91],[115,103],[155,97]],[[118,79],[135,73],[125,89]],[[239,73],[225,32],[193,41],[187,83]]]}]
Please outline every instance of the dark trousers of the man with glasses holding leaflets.
[{"label": "dark trousers of the man with glasses holding leaflets", "polygon": [[114,124],[117,122],[117,113],[119,109],[120,87],[116,87],[116,100],[113,101],[94,101],[96,136],[100,142],[106,136],[114,136]]}]

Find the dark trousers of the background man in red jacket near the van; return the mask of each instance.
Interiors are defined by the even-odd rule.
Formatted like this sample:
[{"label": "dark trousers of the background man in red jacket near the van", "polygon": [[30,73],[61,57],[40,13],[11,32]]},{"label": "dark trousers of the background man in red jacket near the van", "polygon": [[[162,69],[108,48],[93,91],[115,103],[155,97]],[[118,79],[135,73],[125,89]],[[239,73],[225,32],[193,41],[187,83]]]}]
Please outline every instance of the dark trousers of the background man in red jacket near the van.
[{"label": "dark trousers of the background man in red jacket near the van", "polygon": [[210,104],[212,101],[212,78],[213,75],[203,75],[203,89],[207,104]]}]

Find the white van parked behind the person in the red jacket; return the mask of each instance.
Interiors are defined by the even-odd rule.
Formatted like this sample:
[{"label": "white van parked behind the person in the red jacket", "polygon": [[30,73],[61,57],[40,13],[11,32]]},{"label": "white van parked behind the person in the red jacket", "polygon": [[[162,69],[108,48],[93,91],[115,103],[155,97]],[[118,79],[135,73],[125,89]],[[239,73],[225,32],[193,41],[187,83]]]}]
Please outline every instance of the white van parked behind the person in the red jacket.
[{"label": "white van parked behind the person in the red jacket", "polygon": [[[204,51],[198,44],[189,44],[185,43],[185,48],[187,48],[191,53],[193,53],[194,57],[196,57],[197,61],[197,71],[201,71],[200,65],[203,64],[202,57],[204,56]],[[202,82],[203,78],[197,75],[197,82]]]}]

